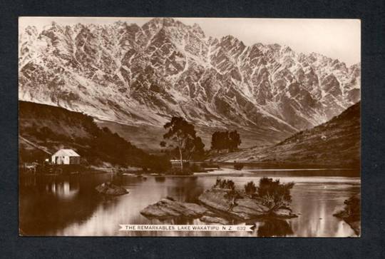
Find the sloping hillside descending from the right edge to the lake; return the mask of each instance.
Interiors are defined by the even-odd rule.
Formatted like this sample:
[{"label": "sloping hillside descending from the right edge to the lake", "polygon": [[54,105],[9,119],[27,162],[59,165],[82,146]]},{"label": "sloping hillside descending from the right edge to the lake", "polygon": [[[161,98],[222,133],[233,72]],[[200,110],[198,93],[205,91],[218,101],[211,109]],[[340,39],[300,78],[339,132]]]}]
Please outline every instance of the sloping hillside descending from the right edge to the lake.
[{"label": "sloping hillside descending from the right edge to the lake", "polygon": [[277,145],[228,153],[213,159],[300,168],[359,168],[360,104],[358,102],[327,123],[296,133]]}]

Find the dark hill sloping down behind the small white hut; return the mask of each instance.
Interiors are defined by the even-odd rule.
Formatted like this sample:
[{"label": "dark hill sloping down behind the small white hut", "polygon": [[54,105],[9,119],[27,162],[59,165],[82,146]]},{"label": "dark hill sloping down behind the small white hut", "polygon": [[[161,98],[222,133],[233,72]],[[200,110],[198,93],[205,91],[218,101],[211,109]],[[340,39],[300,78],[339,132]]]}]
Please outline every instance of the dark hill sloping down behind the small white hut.
[{"label": "dark hill sloping down behind the small white hut", "polygon": [[71,148],[83,163],[98,166],[145,166],[150,160],[118,134],[99,128],[91,116],[19,101],[19,162],[43,161],[60,148]]}]

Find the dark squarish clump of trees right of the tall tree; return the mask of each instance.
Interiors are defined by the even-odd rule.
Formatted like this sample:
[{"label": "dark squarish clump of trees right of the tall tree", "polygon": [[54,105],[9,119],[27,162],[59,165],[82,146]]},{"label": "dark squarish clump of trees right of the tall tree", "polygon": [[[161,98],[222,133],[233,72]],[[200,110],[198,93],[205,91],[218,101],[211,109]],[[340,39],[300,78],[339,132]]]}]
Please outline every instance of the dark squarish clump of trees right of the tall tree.
[{"label": "dark squarish clump of trees right of the tall tree", "polygon": [[211,136],[211,149],[216,151],[235,151],[240,143],[242,141],[237,131],[215,131]]}]

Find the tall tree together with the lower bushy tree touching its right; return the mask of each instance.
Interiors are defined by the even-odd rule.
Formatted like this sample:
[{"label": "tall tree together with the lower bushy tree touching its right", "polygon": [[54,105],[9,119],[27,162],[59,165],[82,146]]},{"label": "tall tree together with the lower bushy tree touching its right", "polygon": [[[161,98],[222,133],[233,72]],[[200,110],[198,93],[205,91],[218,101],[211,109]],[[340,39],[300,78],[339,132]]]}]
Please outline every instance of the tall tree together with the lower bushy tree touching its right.
[{"label": "tall tree together with the lower bushy tree touching its right", "polygon": [[185,118],[173,117],[171,121],[163,126],[167,133],[163,135],[164,141],[160,141],[160,146],[167,146],[167,142],[171,142],[169,147],[173,148],[180,159],[180,170],[183,171],[183,160],[200,160],[205,156],[205,144],[202,138],[197,136],[193,124],[188,123]]}]

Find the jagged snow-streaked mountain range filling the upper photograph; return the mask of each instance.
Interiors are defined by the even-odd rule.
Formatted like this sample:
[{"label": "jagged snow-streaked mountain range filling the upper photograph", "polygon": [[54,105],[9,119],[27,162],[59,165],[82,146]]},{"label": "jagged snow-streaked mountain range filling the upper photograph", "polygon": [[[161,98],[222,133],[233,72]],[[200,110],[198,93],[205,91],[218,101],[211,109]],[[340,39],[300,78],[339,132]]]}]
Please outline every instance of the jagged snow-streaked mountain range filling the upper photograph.
[{"label": "jagged snow-streaked mountain range filling the upper photograph", "polygon": [[184,116],[261,143],[327,121],[360,98],[360,65],[287,46],[213,39],[195,24],[51,24],[19,36],[19,99],[120,123]]}]

